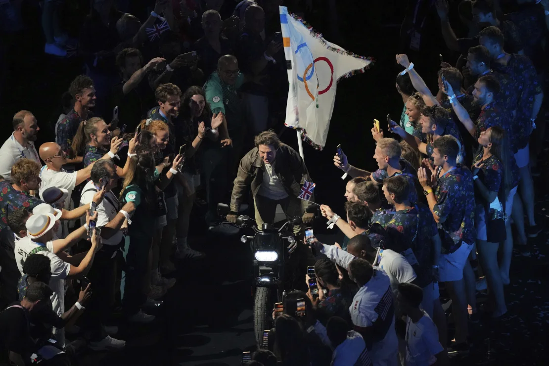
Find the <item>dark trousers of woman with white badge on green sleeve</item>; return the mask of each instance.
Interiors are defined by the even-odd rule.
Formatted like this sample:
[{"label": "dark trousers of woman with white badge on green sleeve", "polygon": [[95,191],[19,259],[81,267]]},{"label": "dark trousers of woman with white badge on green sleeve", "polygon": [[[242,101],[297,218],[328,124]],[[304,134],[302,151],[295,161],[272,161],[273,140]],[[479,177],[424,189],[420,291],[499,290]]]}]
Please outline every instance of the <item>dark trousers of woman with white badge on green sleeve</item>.
[{"label": "dark trousers of woman with white badge on green sleeve", "polygon": [[[156,217],[151,216],[152,220]],[[152,221],[153,223],[154,221]],[[151,226],[152,227],[152,226]],[[131,230],[131,229],[130,229]],[[143,231],[130,231],[129,243],[126,243],[124,258],[126,266],[122,272],[122,308],[127,315],[133,315],[139,311],[141,305],[147,301],[147,295],[143,292],[145,275],[149,261],[149,250],[153,237]]]}]

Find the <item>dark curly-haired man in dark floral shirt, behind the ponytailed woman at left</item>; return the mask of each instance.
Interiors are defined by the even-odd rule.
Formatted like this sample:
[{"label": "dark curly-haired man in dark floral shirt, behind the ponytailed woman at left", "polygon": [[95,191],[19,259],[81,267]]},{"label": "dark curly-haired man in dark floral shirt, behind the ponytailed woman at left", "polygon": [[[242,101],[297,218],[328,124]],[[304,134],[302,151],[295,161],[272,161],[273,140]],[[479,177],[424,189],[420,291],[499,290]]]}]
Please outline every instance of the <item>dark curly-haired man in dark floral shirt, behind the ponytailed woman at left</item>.
[{"label": "dark curly-haired man in dark floral shirt, behind the ponytailed woman at left", "polygon": [[70,83],[69,93],[74,100],[74,108],[55,124],[55,142],[69,156],[66,164],[77,164],[82,162],[82,156],[76,156],[81,151],[72,151],[72,139],[76,136],[80,122],[93,117],[89,108],[96,105],[97,96],[93,80],[85,75],[77,76]]}]

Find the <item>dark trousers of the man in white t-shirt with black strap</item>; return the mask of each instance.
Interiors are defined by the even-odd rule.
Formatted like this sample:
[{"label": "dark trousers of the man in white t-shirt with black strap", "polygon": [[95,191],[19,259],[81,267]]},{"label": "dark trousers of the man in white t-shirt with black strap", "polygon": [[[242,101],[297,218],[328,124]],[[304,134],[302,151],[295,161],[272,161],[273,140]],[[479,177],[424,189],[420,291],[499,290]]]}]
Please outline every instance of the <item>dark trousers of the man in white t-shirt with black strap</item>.
[{"label": "dark trousers of the man in white t-shirt with black strap", "polygon": [[[92,268],[88,272],[92,298],[82,314],[86,330],[91,331],[91,340],[103,339],[101,324],[110,314],[114,305],[116,285],[116,254],[119,245],[103,245],[97,252]],[[114,256],[114,257],[113,257]]]}]

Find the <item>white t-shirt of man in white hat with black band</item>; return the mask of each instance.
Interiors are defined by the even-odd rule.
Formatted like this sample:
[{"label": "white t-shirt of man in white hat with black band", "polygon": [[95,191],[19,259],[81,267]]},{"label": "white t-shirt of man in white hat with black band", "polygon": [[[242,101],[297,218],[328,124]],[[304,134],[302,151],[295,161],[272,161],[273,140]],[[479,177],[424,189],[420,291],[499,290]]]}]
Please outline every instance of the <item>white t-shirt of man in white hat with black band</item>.
[{"label": "white t-shirt of man in white hat with black band", "polygon": [[[23,275],[23,263],[29,253],[40,246],[33,242],[29,237],[21,238],[15,243],[15,261],[17,262],[17,268],[21,275]],[[65,312],[65,279],[70,272],[70,264],[64,262],[53,252],[53,243],[49,241],[45,246],[48,250],[42,250],[37,252],[37,254],[44,255],[49,258],[52,277],[49,280],[49,288],[52,289],[53,295],[51,297],[53,311],[56,312],[59,316],[63,315]]]}]

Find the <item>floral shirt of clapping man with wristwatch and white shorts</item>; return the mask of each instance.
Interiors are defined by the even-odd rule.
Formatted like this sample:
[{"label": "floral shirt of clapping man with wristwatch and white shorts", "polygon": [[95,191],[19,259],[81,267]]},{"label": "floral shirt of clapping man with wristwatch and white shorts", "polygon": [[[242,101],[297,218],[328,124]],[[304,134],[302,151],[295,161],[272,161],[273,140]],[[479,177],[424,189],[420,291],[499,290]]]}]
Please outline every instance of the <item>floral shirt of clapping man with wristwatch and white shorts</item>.
[{"label": "floral shirt of clapping man with wristwatch and white shorts", "polygon": [[433,212],[443,221],[438,223],[441,252],[449,254],[455,252],[462,241],[473,244],[477,237],[473,176],[467,167],[459,164],[442,175],[440,171],[438,167]]}]

